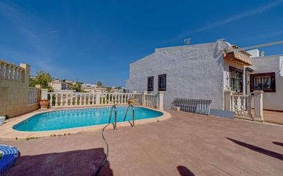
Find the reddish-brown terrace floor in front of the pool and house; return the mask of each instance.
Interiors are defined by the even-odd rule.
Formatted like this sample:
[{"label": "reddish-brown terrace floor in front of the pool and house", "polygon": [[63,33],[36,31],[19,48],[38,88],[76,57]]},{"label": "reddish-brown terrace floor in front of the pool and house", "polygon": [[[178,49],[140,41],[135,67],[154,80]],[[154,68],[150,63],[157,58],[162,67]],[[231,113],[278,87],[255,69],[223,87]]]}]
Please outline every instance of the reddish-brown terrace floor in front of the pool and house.
[{"label": "reddish-brown terrace floor in front of the pool and house", "polygon": [[[283,127],[170,113],[167,121],[107,130],[101,175],[283,175]],[[105,152],[100,131],[0,143],[21,151],[5,176],[92,175]]]}]

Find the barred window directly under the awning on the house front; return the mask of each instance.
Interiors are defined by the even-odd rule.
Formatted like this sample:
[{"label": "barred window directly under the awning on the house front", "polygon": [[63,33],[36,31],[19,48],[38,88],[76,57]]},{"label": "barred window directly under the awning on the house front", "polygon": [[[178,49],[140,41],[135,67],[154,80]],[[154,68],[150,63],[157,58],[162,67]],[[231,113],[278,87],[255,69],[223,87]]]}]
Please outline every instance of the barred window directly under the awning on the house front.
[{"label": "barred window directly under the awning on the house front", "polygon": [[233,66],[229,67],[231,90],[242,92],[242,70]]}]

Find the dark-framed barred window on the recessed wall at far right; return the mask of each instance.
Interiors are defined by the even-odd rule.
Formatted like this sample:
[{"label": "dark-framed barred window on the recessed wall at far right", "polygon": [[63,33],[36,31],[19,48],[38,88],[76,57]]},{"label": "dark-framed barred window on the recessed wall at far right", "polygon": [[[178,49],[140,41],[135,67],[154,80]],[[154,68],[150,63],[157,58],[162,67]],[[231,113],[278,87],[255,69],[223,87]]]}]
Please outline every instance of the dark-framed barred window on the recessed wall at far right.
[{"label": "dark-framed barred window on the recessed wall at far right", "polygon": [[251,91],[275,92],[275,72],[250,75]]}]

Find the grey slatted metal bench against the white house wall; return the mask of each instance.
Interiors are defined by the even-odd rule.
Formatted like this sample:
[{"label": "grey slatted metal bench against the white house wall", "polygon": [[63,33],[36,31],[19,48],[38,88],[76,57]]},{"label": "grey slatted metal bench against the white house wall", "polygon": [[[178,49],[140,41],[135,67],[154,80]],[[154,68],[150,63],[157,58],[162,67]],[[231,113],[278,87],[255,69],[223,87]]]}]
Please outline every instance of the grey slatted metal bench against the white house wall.
[{"label": "grey slatted metal bench against the white house wall", "polygon": [[205,99],[174,99],[171,105],[172,108],[179,107],[181,111],[209,115],[211,103],[212,100]]}]

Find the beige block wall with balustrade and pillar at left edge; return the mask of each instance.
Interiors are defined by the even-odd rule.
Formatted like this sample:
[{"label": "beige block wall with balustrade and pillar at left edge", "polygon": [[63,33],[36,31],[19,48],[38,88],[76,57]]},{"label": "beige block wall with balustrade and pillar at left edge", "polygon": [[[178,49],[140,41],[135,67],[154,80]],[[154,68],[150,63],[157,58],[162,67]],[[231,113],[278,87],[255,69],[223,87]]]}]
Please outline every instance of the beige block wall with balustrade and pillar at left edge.
[{"label": "beige block wall with balustrade and pillar at left edge", "polygon": [[0,116],[13,117],[37,110],[38,103],[27,103],[30,66],[16,66],[5,61],[0,64]]}]

